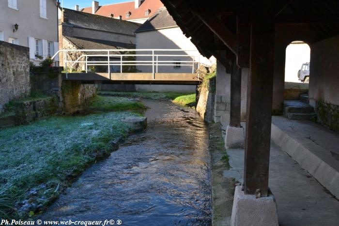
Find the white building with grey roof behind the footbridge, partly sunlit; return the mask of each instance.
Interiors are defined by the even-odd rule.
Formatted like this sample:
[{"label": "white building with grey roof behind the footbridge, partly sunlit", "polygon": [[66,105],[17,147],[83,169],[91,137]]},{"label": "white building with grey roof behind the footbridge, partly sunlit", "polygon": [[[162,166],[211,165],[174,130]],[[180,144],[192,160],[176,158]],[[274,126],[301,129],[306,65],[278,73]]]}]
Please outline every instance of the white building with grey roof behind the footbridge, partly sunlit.
[{"label": "white building with grey roof behind the footbridge, partly sunlit", "polygon": [[[159,55],[177,55],[158,57],[163,64],[172,64],[167,66],[158,66],[158,73],[196,73],[198,63],[205,66],[211,66],[216,62],[215,58],[206,59],[202,57],[191,40],[183,34],[183,31],[177,26],[166,8],[160,8],[143,25],[136,30],[137,49],[181,49],[184,51],[154,52]],[[139,51],[139,54],[150,54],[150,52]],[[180,56],[181,55],[181,56]],[[189,57],[187,57],[189,56]],[[138,61],[152,60],[152,57],[137,57]],[[194,68],[190,61],[196,61]],[[187,62],[189,61],[189,62]],[[137,66],[137,69],[143,73],[151,73],[152,66]],[[196,87],[191,85],[136,85],[138,91],[180,91],[195,92]]]}]

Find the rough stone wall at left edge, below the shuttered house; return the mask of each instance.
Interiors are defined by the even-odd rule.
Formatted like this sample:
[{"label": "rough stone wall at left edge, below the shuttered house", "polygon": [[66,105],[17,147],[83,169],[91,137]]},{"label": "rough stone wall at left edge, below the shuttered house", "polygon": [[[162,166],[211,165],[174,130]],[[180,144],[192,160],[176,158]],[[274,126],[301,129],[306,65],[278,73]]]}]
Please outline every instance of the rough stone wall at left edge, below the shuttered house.
[{"label": "rough stone wall at left edge, below the shuttered house", "polygon": [[0,112],[12,99],[30,94],[29,48],[0,41]]}]

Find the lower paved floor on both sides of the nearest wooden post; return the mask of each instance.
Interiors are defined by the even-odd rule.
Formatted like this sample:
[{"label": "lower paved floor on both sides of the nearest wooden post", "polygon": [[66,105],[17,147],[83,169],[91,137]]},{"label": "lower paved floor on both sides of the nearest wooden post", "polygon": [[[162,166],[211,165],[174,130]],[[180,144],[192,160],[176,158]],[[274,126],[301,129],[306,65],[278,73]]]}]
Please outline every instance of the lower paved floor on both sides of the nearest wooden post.
[{"label": "lower paved floor on both sides of the nearest wooden post", "polygon": [[[228,150],[231,170],[243,179],[244,150]],[[338,226],[339,201],[286,152],[271,142],[269,187],[277,199],[280,226]],[[224,176],[237,175],[224,172]]]}]

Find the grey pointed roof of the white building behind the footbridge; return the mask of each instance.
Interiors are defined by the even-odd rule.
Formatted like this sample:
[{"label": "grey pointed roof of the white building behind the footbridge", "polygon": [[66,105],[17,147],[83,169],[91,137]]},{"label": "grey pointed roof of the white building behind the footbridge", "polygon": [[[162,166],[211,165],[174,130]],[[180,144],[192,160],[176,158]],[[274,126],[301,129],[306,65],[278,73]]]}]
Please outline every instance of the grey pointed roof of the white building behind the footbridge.
[{"label": "grey pointed roof of the white building behind the footbridge", "polygon": [[164,28],[178,27],[166,8],[158,9],[152,17],[143,23],[135,32],[159,30]]}]

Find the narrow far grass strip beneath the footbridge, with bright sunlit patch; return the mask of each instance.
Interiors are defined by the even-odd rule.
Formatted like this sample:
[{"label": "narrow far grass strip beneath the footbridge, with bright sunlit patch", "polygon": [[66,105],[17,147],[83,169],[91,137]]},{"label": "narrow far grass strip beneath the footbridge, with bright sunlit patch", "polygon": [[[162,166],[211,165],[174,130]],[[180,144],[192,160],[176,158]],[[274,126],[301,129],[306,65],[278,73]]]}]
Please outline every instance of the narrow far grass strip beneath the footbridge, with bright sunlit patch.
[{"label": "narrow far grass strip beneath the footbridge, with bright sunlit patch", "polygon": [[105,96],[120,96],[130,98],[144,98],[161,100],[167,99],[178,105],[194,106],[195,93],[182,93],[182,92],[113,92],[113,91],[99,91],[99,95]]}]

